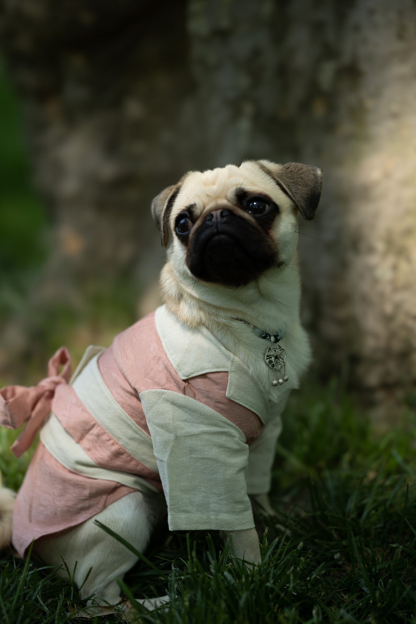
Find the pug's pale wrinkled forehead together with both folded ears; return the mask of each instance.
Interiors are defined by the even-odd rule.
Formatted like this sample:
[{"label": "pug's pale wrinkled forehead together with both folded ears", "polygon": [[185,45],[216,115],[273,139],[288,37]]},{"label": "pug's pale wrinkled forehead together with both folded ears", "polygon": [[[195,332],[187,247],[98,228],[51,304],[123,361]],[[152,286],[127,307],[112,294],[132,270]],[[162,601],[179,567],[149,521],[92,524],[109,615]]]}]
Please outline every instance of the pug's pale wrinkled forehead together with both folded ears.
[{"label": "pug's pale wrinkled forehead together with both folded ears", "polygon": [[162,246],[168,244],[172,213],[188,205],[202,210],[217,200],[232,201],[236,188],[271,195],[279,190],[304,218],[311,220],[321,197],[322,171],[301,163],[279,165],[268,160],[248,160],[239,167],[226,165],[204,172],[188,172],[177,184],[165,188],[153,199],[152,216],[160,229]]}]

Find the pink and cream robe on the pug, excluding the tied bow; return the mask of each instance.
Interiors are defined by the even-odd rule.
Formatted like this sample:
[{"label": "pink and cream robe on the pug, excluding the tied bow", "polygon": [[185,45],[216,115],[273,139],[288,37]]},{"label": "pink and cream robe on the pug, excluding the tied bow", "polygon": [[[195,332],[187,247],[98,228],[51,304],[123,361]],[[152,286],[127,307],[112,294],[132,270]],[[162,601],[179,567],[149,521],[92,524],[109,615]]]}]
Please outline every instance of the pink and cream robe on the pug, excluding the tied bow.
[{"label": "pink and cream robe on the pug, excluding the tied bow", "polygon": [[274,442],[259,444],[253,461],[248,445],[264,424],[274,441],[277,431],[264,395],[208,329],[188,328],[165,306],[108,349],[87,349],[70,384],[54,389],[17,494],[13,544],[24,555],[33,539],[133,490],[164,492],[171,529],[253,527],[246,482],[266,487]]}]

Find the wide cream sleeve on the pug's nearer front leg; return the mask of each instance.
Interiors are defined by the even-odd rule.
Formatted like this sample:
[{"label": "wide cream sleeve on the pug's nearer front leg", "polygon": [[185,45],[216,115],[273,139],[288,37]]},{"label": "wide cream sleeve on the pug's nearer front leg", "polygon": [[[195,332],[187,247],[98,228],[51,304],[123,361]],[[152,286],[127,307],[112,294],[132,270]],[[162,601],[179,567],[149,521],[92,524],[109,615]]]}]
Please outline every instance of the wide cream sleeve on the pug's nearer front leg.
[{"label": "wide cream sleeve on the pug's nearer front leg", "polygon": [[140,393],[171,530],[254,527],[244,434],[218,412],[170,390]]}]

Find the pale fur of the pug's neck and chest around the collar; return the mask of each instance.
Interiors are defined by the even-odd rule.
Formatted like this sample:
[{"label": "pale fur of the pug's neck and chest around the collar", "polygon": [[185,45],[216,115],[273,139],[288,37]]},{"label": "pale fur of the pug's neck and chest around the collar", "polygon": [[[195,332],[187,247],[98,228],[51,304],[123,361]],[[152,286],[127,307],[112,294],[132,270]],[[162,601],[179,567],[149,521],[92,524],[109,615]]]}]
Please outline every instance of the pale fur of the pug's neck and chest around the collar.
[{"label": "pale fur of the pug's neck and chest around the collar", "polygon": [[[175,258],[175,253],[170,257]],[[161,288],[167,307],[181,322],[205,325],[228,351],[246,364],[272,401],[276,389],[271,371],[264,366],[264,341],[248,331],[242,318],[264,331],[286,330],[284,346],[297,376],[311,361],[311,348],[299,318],[301,285],[297,257],[266,271],[258,280],[239,288],[203,283],[175,260],[162,270]]]}]

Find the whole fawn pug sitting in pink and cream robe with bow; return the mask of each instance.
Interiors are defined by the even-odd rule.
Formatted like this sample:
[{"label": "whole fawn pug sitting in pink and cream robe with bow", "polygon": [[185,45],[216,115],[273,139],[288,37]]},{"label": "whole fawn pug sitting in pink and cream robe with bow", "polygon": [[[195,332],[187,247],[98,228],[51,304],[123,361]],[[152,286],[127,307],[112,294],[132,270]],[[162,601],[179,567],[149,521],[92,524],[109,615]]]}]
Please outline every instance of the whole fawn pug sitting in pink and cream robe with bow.
[{"label": "whole fawn pug sitting in pink and cream robe with bow", "polygon": [[39,386],[3,389],[1,423],[27,421],[16,454],[41,427],[12,543],[64,560],[89,603],[119,603],[116,578],[138,560],[99,523],[143,553],[163,500],[170,530],[220,530],[236,557],[260,562],[251,500],[272,511],[281,411],[311,359],[296,246],[321,188],[321,169],[300,163],[186,173],[152,202],[169,245],[165,304],[88,348],[71,379],[62,348]]}]

